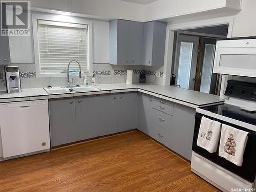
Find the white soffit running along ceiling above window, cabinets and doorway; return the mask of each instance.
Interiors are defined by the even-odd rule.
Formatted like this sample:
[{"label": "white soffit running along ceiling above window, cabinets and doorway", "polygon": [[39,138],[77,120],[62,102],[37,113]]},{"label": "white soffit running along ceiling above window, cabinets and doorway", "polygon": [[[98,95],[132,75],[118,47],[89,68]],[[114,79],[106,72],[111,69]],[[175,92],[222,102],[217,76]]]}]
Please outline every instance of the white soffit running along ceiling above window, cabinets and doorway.
[{"label": "white soffit running along ceiling above window, cabinets and doorway", "polygon": [[[159,0],[140,5],[120,0],[31,0],[32,8],[68,11],[85,17],[127,19],[140,22],[194,13],[220,14],[239,8],[241,0]],[[73,2],[68,5],[68,2]],[[227,9],[225,9],[227,8]],[[39,11],[39,10],[37,10]],[[79,15],[78,15],[79,16]],[[224,16],[224,15],[223,15]],[[189,16],[188,16],[189,18]]]}]

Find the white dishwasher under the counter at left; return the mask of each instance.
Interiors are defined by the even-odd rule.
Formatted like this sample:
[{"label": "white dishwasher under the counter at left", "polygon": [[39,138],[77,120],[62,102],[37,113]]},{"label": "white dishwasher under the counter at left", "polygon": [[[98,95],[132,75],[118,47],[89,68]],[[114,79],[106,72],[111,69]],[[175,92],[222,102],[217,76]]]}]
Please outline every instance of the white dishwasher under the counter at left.
[{"label": "white dishwasher under the counter at left", "polygon": [[48,100],[0,103],[0,130],[4,158],[49,150]]}]

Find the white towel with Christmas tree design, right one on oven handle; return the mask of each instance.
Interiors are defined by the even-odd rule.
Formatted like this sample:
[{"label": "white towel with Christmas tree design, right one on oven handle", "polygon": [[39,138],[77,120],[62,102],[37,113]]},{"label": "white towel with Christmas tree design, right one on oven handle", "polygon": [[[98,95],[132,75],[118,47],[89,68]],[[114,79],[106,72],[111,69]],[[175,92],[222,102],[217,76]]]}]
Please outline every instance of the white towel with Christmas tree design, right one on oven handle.
[{"label": "white towel with Christmas tree design, right one on oven handle", "polygon": [[248,132],[222,124],[219,156],[241,166],[248,138],[247,135]]}]

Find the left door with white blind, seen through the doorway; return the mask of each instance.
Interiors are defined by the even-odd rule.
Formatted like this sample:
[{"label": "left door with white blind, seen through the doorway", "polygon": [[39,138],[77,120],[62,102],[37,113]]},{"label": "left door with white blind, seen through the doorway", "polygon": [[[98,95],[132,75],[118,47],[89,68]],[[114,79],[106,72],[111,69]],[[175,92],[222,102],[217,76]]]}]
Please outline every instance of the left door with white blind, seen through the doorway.
[{"label": "left door with white blind, seen through the doorway", "polygon": [[179,35],[176,52],[177,84],[181,88],[194,90],[199,37],[190,35]]}]

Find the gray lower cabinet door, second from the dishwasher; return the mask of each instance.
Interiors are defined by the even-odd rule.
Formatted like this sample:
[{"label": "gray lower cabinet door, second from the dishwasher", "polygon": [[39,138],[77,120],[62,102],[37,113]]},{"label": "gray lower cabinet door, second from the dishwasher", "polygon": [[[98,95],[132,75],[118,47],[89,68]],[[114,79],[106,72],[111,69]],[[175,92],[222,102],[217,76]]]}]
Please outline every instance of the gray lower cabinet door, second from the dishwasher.
[{"label": "gray lower cabinet door, second from the dishwasher", "polygon": [[77,141],[98,136],[97,101],[97,96],[75,99]]}]

